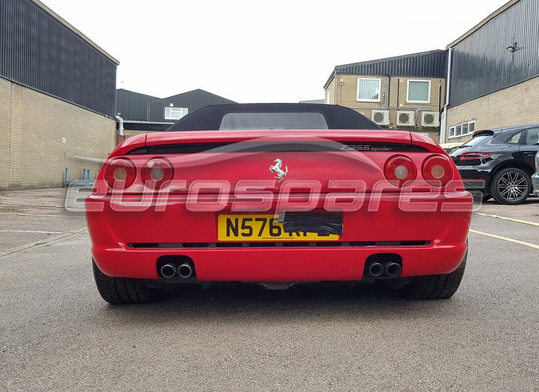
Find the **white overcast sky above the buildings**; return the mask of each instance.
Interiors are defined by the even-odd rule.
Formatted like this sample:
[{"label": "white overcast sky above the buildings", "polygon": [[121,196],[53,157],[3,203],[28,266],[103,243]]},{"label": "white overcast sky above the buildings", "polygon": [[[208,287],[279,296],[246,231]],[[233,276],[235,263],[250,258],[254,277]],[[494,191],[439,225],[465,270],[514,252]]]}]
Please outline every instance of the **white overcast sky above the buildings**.
[{"label": "white overcast sky above the buildings", "polygon": [[165,98],[323,99],[335,65],[444,49],[506,0],[42,0],[120,61],[117,87]]}]

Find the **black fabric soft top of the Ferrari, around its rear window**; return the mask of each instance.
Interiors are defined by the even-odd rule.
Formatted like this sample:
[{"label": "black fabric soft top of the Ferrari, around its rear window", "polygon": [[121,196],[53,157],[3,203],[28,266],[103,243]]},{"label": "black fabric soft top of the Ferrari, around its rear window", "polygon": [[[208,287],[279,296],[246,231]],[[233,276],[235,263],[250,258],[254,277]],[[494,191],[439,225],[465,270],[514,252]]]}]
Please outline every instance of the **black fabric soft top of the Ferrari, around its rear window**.
[{"label": "black fabric soft top of the Ferrari, around its rear window", "polygon": [[337,105],[324,104],[229,104],[213,105],[198,109],[175,122],[165,132],[189,130],[219,130],[227,113],[321,113],[329,129],[382,129],[356,111]]}]

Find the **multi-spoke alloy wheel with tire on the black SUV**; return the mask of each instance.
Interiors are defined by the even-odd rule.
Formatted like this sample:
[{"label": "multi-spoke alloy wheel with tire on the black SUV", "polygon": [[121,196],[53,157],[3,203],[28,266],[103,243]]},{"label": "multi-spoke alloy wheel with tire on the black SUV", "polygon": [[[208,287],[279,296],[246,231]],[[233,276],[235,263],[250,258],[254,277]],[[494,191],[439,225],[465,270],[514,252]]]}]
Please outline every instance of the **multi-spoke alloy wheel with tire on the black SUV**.
[{"label": "multi-spoke alloy wheel with tire on the black SUV", "polygon": [[495,201],[501,204],[522,204],[530,192],[530,175],[521,169],[501,169],[490,180],[490,194]]}]

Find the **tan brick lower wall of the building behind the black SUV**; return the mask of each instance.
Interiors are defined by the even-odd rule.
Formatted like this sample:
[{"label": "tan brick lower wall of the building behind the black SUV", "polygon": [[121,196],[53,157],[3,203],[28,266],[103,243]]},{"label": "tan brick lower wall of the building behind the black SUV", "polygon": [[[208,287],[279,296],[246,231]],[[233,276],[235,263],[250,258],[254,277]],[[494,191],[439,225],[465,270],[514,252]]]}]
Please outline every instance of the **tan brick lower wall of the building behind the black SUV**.
[{"label": "tan brick lower wall of the building behind the black SUV", "polygon": [[468,121],[475,121],[475,130],[539,123],[539,77],[449,108],[447,142],[471,139],[471,134],[448,137],[449,127]]}]

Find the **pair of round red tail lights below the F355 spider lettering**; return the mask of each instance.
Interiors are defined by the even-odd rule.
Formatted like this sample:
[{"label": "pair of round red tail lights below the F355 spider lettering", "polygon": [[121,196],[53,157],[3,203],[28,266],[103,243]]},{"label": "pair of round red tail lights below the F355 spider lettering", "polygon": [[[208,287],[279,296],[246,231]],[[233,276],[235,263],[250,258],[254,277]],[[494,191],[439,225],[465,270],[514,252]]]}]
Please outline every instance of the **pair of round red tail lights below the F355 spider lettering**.
[{"label": "pair of round red tail lights below the F355 spider lettering", "polygon": [[[416,179],[417,169],[412,160],[396,155],[385,163],[384,175],[391,184],[403,187]],[[453,166],[445,157],[431,155],[423,161],[421,175],[432,187],[444,187],[453,178]]]}]

